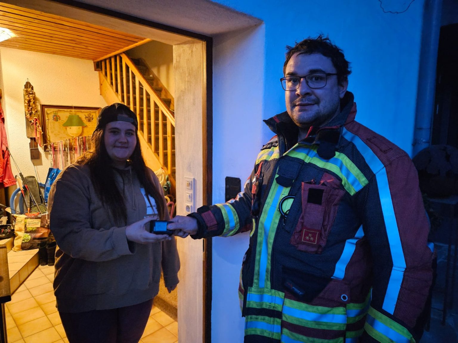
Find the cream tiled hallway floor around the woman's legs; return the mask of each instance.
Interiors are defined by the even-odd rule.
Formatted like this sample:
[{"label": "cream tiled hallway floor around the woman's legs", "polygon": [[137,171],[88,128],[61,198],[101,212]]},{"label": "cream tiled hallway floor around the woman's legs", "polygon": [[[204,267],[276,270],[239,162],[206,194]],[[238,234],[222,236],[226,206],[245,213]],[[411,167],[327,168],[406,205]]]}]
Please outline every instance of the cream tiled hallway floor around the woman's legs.
[{"label": "cream tiled hallway floor around the woman's legs", "polygon": [[[55,308],[54,267],[38,266],[5,304],[8,343],[68,342]],[[178,323],[153,306],[141,343],[178,343]]]}]

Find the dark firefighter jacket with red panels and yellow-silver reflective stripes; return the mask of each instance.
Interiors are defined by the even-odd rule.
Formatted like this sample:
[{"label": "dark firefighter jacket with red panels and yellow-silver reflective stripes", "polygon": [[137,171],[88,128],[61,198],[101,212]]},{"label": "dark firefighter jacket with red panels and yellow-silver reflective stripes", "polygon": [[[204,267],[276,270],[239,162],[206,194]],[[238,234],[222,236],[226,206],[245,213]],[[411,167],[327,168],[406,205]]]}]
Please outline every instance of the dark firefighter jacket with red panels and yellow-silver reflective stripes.
[{"label": "dark firefighter jacket with red panels and yellow-silver reflective stripes", "polygon": [[249,343],[415,342],[431,286],[429,223],[409,156],[342,111],[297,143],[288,113],[265,122],[236,199],[191,214],[193,238],[251,230],[239,288]]}]

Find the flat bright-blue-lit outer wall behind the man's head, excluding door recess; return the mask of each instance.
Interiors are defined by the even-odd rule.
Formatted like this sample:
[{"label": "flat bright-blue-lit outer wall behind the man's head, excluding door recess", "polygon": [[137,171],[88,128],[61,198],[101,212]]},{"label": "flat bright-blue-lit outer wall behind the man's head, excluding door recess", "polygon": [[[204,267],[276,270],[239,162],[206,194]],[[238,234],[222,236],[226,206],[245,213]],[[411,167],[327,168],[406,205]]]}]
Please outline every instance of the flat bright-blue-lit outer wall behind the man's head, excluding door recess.
[{"label": "flat bright-blue-lit outer wall behind the man's head, excluding door recess", "polygon": [[[384,13],[376,0],[308,1],[298,6],[278,5],[273,0],[262,5],[258,1],[217,2],[265,22],[265,51],[258,56],[265,59],[263,118],[284,111],[278,79],[283,76],[285,45],[322,32],[351,62],[349,91],[358,104],[357,120],[410,153],[424,1],[414,1],[400,14]],[[399,1],[382,3],[385,11],[404,9],[397,5]],[[286,19],[293,17],[298,20]]]}]

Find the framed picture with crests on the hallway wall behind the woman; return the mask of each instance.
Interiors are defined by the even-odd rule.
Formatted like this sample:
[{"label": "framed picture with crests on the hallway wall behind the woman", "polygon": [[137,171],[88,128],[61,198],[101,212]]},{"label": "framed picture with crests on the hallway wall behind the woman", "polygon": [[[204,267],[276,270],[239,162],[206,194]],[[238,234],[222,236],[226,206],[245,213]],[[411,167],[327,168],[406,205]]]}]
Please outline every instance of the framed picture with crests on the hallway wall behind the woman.
[{"label": "framed picture with crests on the hallway wall behind the woman", "polygon": [[50,143],[94,132],[100,107],[41,105],[44,150]]}]

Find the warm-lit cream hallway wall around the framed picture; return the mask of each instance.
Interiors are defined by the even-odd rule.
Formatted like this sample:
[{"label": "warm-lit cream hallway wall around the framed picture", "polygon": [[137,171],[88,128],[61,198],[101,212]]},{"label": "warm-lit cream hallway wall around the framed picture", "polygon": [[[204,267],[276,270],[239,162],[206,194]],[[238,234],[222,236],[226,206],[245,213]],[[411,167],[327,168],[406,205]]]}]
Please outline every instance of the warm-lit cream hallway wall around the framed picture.
[{"label": "warm-lit cream hallway wall around the framed picture", "polygon": [[[11,153],[24,176],[35,175],[37,166],[41,182],[49,168],[49,153],[40,148],[41,160],[30,159],[26,136],[24,96],[27,79],[32,83],[36,105],[104,107],[99,92],[98,73],[91,60],[75,59],[53,54],[36,53],[12,48],[0,48],[0,86],[5,111],[5,127]],[[17,174],[12,166],[13,174]]]}]

